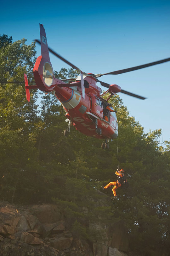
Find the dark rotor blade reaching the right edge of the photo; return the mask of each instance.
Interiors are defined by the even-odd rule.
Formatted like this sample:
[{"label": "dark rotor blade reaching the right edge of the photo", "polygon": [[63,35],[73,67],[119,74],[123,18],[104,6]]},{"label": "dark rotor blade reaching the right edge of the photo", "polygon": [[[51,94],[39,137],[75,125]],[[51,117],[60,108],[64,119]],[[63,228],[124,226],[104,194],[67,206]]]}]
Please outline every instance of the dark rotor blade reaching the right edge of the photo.
[{"label": "dark rotor blade reaching the right edge of the photo", "polygon": [[135,66],[135,67],[131,67],[131,68],[125,68],[125,69],[121,69],[121,70],[117,70],[117,71],[113,71],[113,72],[109,72],[109,73],[105,73],[105,74],[100,74],[100,76],[104,76],[104,75],[119,75],[119,74],[122,74],[122,73],[131,72],[131,71],[138,70],[138,69],[141,69],[141,68],[145,68],[145,67],[150,67],[150,66],[154,66],[154,65],[157,65],[157,64],[161,64],[161,63],[167,62],[167,61],[170,61],[170,58],[161,59],[161,60],[158,60],[158,61],[150,62],[148,64],[140,65],[140,66]]}]

